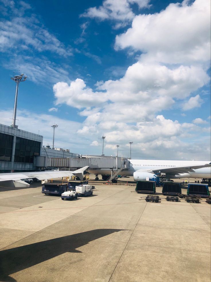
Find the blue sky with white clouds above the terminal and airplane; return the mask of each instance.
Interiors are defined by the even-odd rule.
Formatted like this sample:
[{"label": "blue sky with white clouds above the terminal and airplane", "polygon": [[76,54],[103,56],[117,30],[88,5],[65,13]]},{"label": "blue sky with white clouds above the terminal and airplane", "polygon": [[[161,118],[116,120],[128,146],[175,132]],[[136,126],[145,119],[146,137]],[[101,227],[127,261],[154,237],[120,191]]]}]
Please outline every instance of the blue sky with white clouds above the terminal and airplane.
[{"label": "blue sky with white clouds above the terminal and airplane", "polygon": [[77,154],[210,160],[210,0],[0,0],[0,123]]}]

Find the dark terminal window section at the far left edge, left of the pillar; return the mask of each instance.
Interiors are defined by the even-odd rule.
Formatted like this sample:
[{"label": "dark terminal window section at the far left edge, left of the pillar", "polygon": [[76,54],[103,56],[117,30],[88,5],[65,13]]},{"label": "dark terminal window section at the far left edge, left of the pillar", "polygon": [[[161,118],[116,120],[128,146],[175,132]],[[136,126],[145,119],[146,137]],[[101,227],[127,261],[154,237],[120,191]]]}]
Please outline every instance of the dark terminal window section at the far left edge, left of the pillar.
[{"label": "dark terminal window section at the far left edge, left of the pillar", "polygon": [[0,133],[0,161],[11,162],[13,136]]}]

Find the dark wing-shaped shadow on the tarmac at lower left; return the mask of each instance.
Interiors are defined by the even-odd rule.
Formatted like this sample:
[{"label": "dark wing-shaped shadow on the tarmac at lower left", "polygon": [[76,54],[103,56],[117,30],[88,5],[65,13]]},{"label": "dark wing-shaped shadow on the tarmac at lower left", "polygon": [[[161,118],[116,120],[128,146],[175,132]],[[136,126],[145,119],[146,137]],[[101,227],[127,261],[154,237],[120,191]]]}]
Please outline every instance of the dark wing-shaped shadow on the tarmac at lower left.
[{"label": "dark wing-shaped shadow on the tarmac at lower left", "polygon": [[124,229],[95,229],[0,251],[0,281],[15,282],[12,273],[44,262],[66,252],[81,253],[77,248]]}]

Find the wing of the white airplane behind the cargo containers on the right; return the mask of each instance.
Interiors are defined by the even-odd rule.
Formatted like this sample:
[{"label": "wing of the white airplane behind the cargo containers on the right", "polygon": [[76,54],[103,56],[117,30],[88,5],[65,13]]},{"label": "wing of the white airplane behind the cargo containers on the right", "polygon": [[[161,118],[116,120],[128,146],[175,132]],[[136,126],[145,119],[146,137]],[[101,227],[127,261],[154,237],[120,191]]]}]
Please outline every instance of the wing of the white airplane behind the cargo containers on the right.
[{"label": "wing of the white airplane behind the cargo containers on the right", "polygon": [[169,173],[169,174],[179,174],[179,173],[189,173],[189,172],[195,172],[194,169],[197,168],[203,168],[203,167],[211,167],[211,163],[209,164],[191,164],[191,165],[184,165],[184,166],[173,166],[173,167],[155,167],[152,168],[151,171],[154,173],[157,172],[163,172],[163,173]]}]

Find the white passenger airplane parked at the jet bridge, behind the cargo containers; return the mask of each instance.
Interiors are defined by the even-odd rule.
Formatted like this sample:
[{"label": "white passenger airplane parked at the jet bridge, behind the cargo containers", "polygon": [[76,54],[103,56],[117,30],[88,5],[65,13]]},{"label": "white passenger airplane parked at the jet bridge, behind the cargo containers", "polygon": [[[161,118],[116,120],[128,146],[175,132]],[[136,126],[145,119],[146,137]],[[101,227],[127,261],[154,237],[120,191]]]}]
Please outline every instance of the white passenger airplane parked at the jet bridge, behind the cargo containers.
[{"label": "white passenger airplane parked at the jet bridge, behind the cargo containers", "polygon": [[[114,170],[115,172],[116,170]],[[110,175],[108,169],[89,169],[89,172]],[[158,173],[165,173],[165,178],[211,178],[210,161],[171,161],[171,160],[129,160],[129,168],[119,172],[119,175],[134,177],[134,181],[152,179]]]}]

